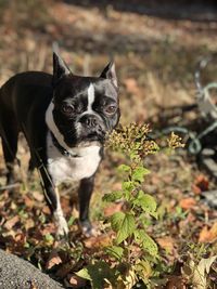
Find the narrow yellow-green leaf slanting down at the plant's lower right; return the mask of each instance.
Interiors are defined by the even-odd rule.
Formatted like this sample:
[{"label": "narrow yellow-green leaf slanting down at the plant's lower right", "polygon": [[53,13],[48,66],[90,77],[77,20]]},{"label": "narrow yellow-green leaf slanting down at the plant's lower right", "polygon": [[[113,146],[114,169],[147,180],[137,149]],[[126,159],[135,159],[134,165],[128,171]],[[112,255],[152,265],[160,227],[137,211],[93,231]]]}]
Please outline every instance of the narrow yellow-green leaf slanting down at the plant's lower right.
[{"label": "narrow yellow-green leaf slanting down at the plant's lower right", "polygon": [[158,248],[156,242],[143,229],[137,229],[135,232],[135,238],[141,244],[143,250],[153,257],[157,257]]}]

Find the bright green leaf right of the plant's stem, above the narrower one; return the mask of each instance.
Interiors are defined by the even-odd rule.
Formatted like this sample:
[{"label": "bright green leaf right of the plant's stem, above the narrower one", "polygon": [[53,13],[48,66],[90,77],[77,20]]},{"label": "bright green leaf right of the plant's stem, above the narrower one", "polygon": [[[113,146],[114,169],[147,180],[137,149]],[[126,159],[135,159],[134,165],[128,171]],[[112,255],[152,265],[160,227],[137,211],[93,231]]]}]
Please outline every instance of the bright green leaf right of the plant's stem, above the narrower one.
[{"label": "bright green leaf right of the plant's stem, above the narrower one", "polygon": [[144,212],[153,214],[153,216],[156,218],[156,201],[151,195],[144,194],[143,191],[139,191],[133,205],[142,208]]}]

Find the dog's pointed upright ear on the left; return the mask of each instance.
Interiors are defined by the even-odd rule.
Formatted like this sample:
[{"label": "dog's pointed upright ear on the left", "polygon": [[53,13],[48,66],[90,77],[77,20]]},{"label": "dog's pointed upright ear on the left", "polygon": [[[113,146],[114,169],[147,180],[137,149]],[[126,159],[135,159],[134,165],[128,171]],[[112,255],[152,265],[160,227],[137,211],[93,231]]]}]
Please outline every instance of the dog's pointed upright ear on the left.
[{"label": "dog's pointed upright ear on the left", "polygon": [[53,84],[55,84],[63,76],[72,74],[65,62],[53,52]]}]

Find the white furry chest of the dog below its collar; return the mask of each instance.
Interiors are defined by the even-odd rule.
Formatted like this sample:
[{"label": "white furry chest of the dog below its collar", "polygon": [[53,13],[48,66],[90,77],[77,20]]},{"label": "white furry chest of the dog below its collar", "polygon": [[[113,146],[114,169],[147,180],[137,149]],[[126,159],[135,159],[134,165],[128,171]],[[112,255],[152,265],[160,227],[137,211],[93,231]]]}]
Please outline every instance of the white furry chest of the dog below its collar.
[{"label": "white furry chest of the dog below its collar", "polygon": [[54,185],[65,181],[80,181],[93,175],[101,161],[100,146],[80,147],[77,157],[63,156],[54,146],[50,133],[47,136],[48,171]]}]

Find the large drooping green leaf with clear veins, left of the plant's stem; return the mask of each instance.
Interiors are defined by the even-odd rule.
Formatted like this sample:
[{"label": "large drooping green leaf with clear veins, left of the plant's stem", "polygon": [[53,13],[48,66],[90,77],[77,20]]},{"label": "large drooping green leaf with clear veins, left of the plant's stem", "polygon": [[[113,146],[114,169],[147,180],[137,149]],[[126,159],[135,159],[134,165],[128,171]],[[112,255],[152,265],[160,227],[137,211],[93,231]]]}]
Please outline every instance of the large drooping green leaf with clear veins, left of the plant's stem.
[{"label": "large drooping green leaf with clear veins, left of the plant's stem", "polygon": [[131,213],[117,212],[112,215],[111,225],[117,233],[116,242],[118,245],[133,233],[136,228],[135,216]]}]

